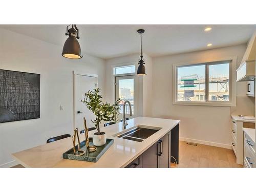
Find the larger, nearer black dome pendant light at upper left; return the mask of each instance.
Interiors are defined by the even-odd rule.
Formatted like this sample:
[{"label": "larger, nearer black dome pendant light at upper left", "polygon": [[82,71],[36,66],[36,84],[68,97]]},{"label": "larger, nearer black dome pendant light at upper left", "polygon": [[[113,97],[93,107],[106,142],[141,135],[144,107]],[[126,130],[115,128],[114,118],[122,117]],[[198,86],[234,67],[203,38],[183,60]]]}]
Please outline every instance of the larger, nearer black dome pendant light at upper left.
[{"label": "larger, nearer black dome pendant light at upper left", "polygon": [[82,58],[82,54],[79,42],[77,40],[79,39],[78,29],[76,25],[72,25],[72,28],[68,30],[69,26],[67,26],[67,32],[65,33],[65,35],[69,35],[69,37],[63,46],[62,56],[70,59],[80,59]]}]

